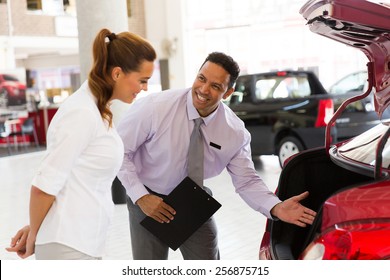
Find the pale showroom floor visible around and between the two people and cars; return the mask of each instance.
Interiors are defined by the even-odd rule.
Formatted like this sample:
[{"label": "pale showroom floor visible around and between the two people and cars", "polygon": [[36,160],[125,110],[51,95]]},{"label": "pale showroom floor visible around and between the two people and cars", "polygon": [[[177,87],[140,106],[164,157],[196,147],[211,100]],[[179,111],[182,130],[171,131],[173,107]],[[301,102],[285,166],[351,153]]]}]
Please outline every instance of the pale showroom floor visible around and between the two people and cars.
[{"label": "pale showroom floor visible around and between the two people and cars", "polygon": [[[44,151],[0,157],[0,259],[18,259],[8,253],[13,234],[28,222],[30,181]],[[276,157],[254,158],[256,169],[272,191],[279,178]],[[217,178],[205,181],[214,197],[222,204],[215,214],[219,230],[219,246],[223,260],[256,260],[266,219],[247,206],[234,192],[230,176],[224,171]],[[106,260],[132,259],[129,225],[125,204],[115,205],[109,232]],[[34,257],[30,257],[34,259]],[[171,251],[169,259],[182,259],[180,251]]]}]

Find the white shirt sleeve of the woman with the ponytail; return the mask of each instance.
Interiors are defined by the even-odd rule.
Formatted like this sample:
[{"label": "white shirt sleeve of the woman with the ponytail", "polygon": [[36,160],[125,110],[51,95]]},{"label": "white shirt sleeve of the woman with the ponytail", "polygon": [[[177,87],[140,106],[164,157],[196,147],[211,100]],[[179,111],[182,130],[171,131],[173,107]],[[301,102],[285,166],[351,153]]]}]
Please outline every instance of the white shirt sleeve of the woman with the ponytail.
[{"label": "white shirt sleeve of the woman with the ponytail", "polygon": [[32,180],[42,191],[57,195],[64,187],[83,150],[94,139],[96,113],[78,108],[51,122],[47,133],[47,152]]}]

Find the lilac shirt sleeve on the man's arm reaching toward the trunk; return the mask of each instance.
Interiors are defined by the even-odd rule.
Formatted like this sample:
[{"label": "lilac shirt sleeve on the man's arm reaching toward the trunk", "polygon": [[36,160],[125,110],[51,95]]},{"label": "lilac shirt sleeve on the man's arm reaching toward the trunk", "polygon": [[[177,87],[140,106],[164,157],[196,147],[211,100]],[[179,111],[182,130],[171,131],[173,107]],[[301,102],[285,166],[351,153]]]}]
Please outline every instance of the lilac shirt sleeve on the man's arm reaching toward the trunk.
[{"label": "lilac shirt sleeve on the man's arm reaching toward the trunk", "polygon": [[254,210],[272,219],[270,211],[281,201],[268,189],[254,168],[249,132],[244,132],[244,139],[244,144],[229,162],[227,171],[241,198]]}]

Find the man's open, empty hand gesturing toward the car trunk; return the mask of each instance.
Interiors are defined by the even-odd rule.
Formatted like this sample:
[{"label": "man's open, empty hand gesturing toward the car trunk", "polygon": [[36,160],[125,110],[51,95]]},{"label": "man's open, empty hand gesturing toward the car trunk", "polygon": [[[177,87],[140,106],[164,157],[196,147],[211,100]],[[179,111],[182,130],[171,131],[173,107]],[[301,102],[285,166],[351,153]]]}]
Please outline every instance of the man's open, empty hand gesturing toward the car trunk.
[{"label": "man's open, empty hand gesturing toward the car trunk", "polygon": [[300,195],[286,199],[276,204],[271,209],[271,214],[284,222],[300,227],[311,225],[317,213],[299,203],[308,196],[309,192],[306,191]]}]

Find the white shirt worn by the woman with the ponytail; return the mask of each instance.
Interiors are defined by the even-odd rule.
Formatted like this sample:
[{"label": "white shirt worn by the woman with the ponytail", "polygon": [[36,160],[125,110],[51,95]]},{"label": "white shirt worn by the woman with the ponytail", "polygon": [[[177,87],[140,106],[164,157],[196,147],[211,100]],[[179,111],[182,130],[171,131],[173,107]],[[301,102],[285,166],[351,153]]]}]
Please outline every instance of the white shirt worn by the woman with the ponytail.
[{"label": "white shirt worn by the woman with the ponytail", "polygon": [[36,244],[57,242],[102,257],[114,209],[111,186],[122,160],[122,140],[103,121],[85,82],[50,122],[47,153],[32,181],[56,197]]}]

